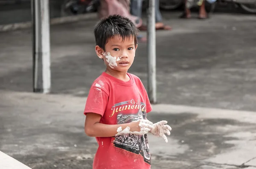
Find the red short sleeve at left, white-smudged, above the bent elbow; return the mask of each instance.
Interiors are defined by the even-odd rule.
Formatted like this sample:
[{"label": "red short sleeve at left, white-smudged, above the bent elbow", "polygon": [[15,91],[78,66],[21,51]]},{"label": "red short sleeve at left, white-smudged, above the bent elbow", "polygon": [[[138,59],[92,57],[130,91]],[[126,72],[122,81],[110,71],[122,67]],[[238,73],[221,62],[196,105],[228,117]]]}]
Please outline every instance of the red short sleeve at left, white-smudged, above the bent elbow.
[{"label": "red short sleeve at left, white-smudged, above the bent elbow", "polygon": [[108,94],[99,87],[90,88],[87,101],[84,108],[84,115],[87,113],[96,113],[104,115],[108,103]]}]

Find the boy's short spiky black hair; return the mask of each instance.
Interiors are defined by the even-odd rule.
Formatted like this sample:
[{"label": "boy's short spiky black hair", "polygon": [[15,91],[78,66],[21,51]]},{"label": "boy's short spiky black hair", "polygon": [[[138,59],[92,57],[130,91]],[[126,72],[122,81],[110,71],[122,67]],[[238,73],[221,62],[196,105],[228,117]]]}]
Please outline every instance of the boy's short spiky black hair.
[{"label": "boy's short spiky black hair", "polygon": [[134,44],[137,45],[137,33],[138,29],[131,20],[117,14],[102,19],[94,28],[96,45],[99,45],[104,51],[108,39],[115,35],[119,35],[123,40],[132,36]]}]

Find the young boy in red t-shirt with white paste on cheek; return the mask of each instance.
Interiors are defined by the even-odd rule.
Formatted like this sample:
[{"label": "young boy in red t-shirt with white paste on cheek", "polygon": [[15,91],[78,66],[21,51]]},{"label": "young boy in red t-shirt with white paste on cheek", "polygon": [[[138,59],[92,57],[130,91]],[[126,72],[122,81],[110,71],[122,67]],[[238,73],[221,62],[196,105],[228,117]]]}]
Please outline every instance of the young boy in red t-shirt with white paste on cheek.
[{"label": "young boy in red t-shirt with white paste on cheek", "polygon": [[170,135],[167,121],[146,119],[152,110],[140,79],[127,73],[137,48],[137,28],[126,17],[111,15],[94,29],[96,54],[106,65],[92,84],[84,109],[84,131],[99,148],[93,169],[150,169],[147,132]]}]

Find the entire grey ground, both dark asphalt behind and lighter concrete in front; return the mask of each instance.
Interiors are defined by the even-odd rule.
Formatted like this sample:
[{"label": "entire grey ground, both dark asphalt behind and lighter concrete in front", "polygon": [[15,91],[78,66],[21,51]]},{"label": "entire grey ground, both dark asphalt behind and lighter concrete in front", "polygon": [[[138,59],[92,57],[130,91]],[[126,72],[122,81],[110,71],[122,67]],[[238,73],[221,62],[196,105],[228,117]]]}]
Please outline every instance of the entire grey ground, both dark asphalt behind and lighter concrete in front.
[{"label": "entire grey ground, both dark asphalt behind and lighter concrete in front", "polygon": [[[173,30],[157,32],[160,104],[148,118],[173,130],[168,144],[149,136],[152,169],[256,169],[256,17],[163,15]],[[0,151],[32,169],[91,168],[97,144],[84,134],[82,112],[104,70],[93,49],[95,23],[51,27],[49,95],[31,93],[31,31],[0,32]],[[145,53],[140,43],[130,72],[147,86]]]}]

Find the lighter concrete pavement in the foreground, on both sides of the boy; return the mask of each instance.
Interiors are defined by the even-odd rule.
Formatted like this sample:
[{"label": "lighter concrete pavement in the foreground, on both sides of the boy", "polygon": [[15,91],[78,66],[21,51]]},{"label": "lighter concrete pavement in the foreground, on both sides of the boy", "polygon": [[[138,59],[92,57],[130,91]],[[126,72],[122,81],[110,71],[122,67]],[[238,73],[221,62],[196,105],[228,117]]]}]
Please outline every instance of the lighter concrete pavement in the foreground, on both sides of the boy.
[{"label": "lighter concrete pavement in the foreground, on both sides of the boy", "polygon": [[[97,143],[84,134],[86,98],[0,90],[0,149],[32,169],[91,169]],[[256,113],[157,104],[148,119],[152,169],[256,169]],[[1,162],[0,162],[1,164]]]}]

